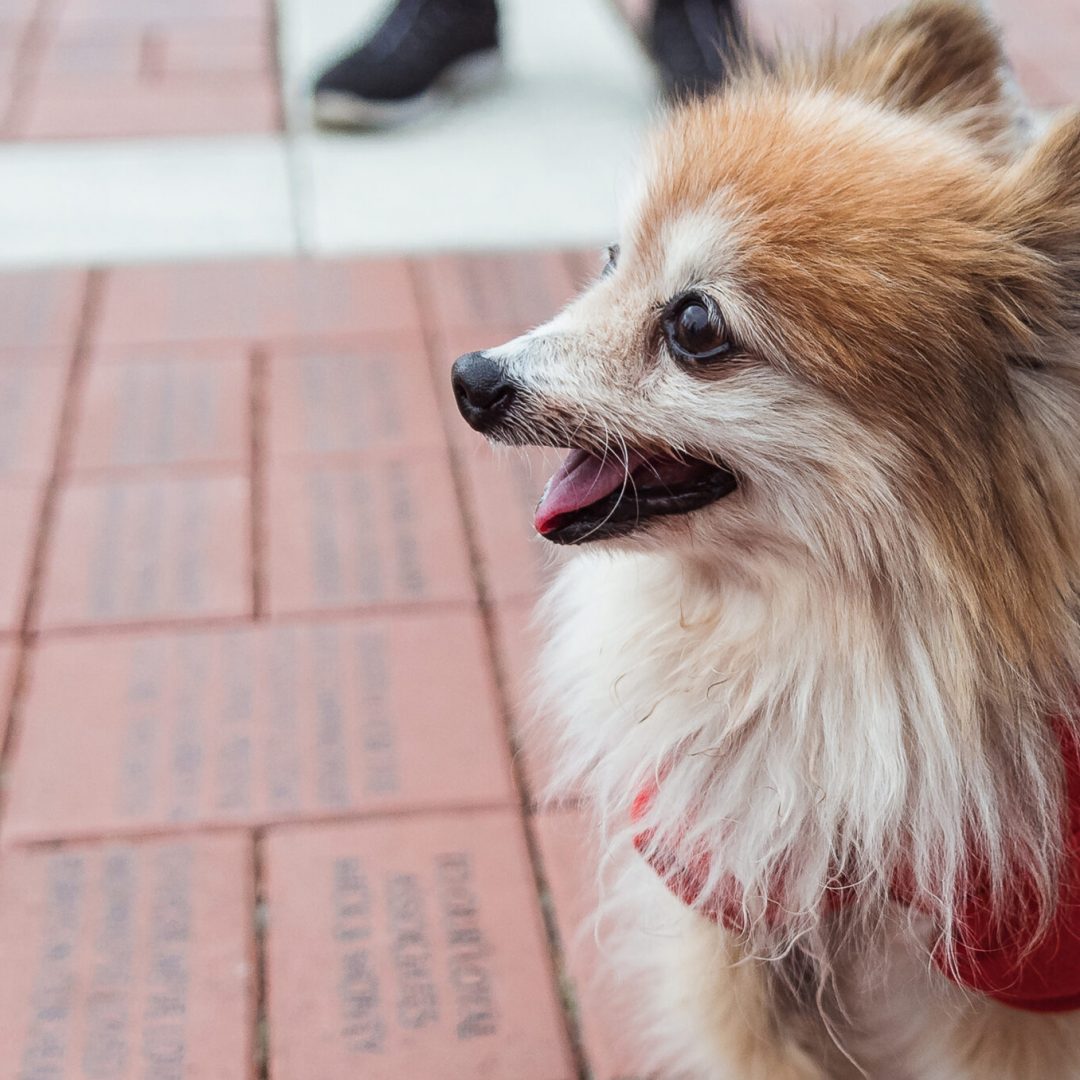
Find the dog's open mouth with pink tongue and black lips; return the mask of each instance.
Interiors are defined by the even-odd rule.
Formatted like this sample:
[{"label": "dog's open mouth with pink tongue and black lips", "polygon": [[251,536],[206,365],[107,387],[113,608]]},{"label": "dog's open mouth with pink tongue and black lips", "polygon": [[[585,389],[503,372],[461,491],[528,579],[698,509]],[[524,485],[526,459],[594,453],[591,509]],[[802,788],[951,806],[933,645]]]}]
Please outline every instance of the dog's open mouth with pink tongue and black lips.
[{"label": "dog's open mouth with pink tongue and black lips", "polygon": [[570,450],[540,498],[536,529],[553,543],[606,540],[701,510],[738,486],[727,469],[692,458]]}]

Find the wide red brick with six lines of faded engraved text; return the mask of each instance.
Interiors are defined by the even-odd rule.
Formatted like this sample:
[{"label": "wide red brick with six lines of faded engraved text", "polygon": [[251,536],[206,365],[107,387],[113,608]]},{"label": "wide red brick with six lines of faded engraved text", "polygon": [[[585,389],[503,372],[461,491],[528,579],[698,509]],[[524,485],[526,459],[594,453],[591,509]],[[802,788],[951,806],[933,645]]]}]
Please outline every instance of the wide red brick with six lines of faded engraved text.
[{"label": "wide red brick with six lines of faded engraved text", "polygon": [[8,840],[516,799],[474,613],[46,639],[24,717]]}]

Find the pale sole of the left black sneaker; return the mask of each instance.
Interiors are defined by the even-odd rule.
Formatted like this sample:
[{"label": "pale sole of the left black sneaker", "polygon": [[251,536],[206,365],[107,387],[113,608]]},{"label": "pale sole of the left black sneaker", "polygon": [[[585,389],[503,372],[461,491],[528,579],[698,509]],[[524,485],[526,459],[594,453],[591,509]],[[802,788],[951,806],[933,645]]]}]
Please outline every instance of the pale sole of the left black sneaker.
[{"label": "pale sole of the left black sneaker", "polygon": [[380,102],[341,91],[322,91],[312,98],[312,113],[323,127],[396,127],[424,116],[447,98],[494,86],[502,73],[502,54],[490,49],[451,64],[431,87],[415,97]]}]

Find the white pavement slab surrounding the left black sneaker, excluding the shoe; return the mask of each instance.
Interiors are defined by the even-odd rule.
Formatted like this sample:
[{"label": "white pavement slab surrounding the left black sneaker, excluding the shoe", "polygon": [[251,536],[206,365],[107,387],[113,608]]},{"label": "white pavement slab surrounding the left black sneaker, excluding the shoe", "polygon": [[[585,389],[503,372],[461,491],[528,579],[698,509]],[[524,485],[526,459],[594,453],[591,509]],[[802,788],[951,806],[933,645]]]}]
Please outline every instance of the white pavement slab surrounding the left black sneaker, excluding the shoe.
[{"label": "white pavement slab surrounding the left black sneaker, excluding the shoe", "polygon": [[322,253],[605,243],[654,107],[607,0],[503,0],[507,80],[394,132],[310,132],[307,85],[380,0],[282,0],[302,242]]}]

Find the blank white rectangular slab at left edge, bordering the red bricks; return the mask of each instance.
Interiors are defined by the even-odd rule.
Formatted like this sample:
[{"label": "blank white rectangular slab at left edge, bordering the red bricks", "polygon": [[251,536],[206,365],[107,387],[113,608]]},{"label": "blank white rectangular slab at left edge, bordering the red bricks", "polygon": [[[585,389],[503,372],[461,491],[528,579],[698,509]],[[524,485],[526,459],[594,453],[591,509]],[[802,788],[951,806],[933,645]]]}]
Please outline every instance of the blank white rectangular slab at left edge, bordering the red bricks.
[{"label": "blank white rectangular slab at left edge, bordering the red bricks", "polygon": [[0,146],[0,264],[295,249],[273,136]]}]

